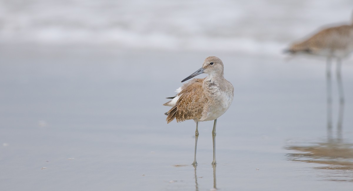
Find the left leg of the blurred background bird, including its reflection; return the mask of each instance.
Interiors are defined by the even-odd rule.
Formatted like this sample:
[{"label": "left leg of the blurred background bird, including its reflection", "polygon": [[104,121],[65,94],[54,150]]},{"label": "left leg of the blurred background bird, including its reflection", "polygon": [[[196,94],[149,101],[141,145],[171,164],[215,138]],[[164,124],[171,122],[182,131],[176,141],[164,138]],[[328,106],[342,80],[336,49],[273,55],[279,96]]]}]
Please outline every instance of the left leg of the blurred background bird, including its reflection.
[{"label": "left leg of the blurred background bird, including its reflection", "polygon": [[327,91],[327,136],[332,139],[332,90],[331,90],[331,57],[326,63],[326,91]]}]

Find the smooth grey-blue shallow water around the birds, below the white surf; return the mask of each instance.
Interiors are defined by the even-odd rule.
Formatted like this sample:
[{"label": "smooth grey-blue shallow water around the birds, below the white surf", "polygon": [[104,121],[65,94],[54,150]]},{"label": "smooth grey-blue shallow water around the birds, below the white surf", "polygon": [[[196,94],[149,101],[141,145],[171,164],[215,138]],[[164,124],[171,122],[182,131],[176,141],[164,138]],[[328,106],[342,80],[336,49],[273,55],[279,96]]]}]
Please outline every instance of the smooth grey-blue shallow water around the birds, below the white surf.
[{"label": "smooth grey-blue shallow water around the birds, below the white surf", "polygon": [[[162,106],[209,55],[234,85],[217,121],[166,124]],[[107,47],[1,47],[3,190],[351,190],[351,60],[341,132],[324,60]],[[201,75],[202,76],[202,75]],[[46,167],[42,169],[42,167]]]}]

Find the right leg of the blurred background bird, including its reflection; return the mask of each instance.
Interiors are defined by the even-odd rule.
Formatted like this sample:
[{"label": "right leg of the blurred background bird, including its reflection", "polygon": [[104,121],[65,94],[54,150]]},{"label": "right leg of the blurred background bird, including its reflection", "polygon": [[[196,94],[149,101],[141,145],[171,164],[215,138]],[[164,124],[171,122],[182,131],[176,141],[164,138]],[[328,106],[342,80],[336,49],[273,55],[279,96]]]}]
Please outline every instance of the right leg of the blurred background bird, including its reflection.
[{"label": "right leg of the blurred background bird, including its reflection", "polygon": [[345,104],[345,98],[344,98],[345,95],[343,91],[343,83],[342,83],[342,76],[341,76],[341,58],[337,58],[336,77],[337,77],[338,92],[340,96],[340,105],[339,105],[339,113],[338,113],[338,121],[337,121],[337,139],[340,141],[342,139],[343,107]]}]

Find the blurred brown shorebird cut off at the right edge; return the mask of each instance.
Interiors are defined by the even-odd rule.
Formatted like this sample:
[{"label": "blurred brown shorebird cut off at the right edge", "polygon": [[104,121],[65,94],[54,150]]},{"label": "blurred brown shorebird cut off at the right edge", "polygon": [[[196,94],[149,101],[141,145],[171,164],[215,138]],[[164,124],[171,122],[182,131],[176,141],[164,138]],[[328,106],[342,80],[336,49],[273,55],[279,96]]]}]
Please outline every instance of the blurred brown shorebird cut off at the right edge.
[{"label": "blurred brown shorebird cut off at the right edge", "polygon": [[[353,15],[352,15],[353,16]],[[327,81],[327,119],[328,131],[332,128],[332,93],[331,93],[331,60],[337,59],[336,78],[340,96],[340,113],[343,113],[344,93],[341,77],[341,60],[353,52],[353,17],[350,25],[341,25],[323,29],[307,40],[293,43],[291,47],[285,50],[286,53],[293,55],[307,54],[324,56],[326,63],[326,81]],[[342,115],[340,115],[342,116]],[[340,117],[339,121],[342,121]],[[337,124],[341,128],[340,122]]]}]

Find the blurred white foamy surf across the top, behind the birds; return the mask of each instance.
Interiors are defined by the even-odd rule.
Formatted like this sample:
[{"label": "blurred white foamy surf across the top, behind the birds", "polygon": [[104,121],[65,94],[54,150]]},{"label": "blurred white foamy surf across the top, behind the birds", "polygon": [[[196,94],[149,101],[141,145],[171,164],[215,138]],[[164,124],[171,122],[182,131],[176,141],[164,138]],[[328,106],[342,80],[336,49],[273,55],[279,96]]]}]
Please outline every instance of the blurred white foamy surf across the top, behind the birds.
[{"label": "blurred white foamy surf across the top, behind the birds", "polygon": [[1,42],[278,55],[351,1],[1,1]]}]

